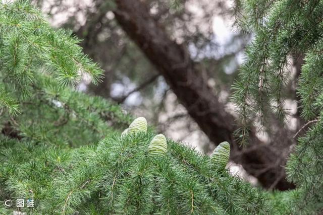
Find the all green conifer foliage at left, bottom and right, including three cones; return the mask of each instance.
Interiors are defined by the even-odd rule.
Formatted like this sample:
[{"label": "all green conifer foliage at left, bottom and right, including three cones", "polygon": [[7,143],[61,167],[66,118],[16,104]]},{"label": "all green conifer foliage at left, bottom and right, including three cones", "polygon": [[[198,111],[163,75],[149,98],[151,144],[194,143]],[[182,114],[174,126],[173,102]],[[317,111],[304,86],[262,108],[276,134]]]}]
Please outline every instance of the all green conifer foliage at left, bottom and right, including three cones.
[{"label": "all green conifer foliage at left, bottom and right, including three cones", "polygon": [[[303,116],[315,124],[287,165],[297,188],[270,192],[229,174],[228,142],[201,155],[155,135],[145,118],[133,121],[109,101],[73,90],[82,76],[96,83],[101,74],[78,40],[53,30],[28,1],[0,3],[0,198],[33,199],[34,207],[19,208],[28,214],[320,212],[322,4],[237,4],[241,28],[256,33],[234,86],[242,131],[254,118],[266,126],[271,111],[284,116],[288,57],[306,53],[298,89]],[[0,205],[1,214],[17,210]]]}]

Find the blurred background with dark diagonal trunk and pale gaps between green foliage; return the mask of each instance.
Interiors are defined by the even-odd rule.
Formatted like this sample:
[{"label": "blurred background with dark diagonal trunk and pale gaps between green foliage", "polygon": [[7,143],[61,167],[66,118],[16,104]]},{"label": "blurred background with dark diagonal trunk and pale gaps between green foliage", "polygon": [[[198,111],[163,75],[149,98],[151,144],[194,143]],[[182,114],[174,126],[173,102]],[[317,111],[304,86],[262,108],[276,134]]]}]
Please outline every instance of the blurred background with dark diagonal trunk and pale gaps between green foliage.
[{"label": "blurred background with dark diagonal trunk and pale gaps between green foliage", "polygon": [[[209,154],[224,140],[231,160],[265,188],[289,189],[286,158],[302,127],[295,84],[302,56],[295,53],[286,101],[289,121],[273,120],[271,132],[252,128],[243,149],[230,86],[252,32],[235,29],[234,3],[227,0],[38,0],[55,27],[72,29],[85,53],[104,69],[98,86],[80,91],[112,99],[134,115],[145,115],[159,132],[189,141]],[[275,117],[273,117],[275,119]],[[256,126],[255,126],[256,127]],[[306,130],[303,129],[303,130]],[[302,130],[302,132],[303,132]],[[284,137],[284,138],[282,138]]]}]

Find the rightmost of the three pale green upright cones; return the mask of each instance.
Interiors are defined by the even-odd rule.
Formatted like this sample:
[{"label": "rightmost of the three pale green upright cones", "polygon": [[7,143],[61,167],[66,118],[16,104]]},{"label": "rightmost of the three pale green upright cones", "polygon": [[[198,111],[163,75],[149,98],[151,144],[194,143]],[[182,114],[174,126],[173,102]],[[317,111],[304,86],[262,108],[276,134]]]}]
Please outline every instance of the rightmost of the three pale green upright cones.
[{"label": "rightmost of the three pale green upright cones", "polygon": [[221,142],[211,155],[212,166],[218,170],[224,170],[228,164],[230,157],[229,142]]}]

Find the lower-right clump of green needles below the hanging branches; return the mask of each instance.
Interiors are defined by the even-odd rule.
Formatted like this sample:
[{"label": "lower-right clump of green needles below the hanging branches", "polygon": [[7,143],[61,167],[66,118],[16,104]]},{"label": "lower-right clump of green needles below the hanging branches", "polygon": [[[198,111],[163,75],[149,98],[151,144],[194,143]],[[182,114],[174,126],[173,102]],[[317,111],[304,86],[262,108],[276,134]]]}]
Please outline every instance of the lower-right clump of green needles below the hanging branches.
[{"label": "lower-right clump of green needles below the hanging branches", "polygon": [[297,185],[291,200],[293,213],[317,214],[323,208],[323,123],[319,120],[299,138],[287,165],[289,180]]}]

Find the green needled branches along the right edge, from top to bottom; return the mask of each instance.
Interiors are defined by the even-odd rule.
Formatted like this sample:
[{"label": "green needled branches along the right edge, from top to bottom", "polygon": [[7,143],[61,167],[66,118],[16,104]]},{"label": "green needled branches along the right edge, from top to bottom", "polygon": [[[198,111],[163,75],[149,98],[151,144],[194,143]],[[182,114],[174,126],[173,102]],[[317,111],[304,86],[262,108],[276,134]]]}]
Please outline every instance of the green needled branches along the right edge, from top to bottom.
[{"label": "green needled branches along the right edge, from top to bottom", "polygon": [[[314,119],[306,136],[298,139],[287,164],[288,180],[297,189],[277,194],[288,199],[292,214],[318,214],[322,211],[322,11],[323,2],[310,1],[239,1],[238,26],[254,31],[255,38],[246,51],[246,62],[233,89],[233,100],[240,112],[240,136],[248,134],[252,122],[266,127],[275,112],[284,118],[286,84],[290,78],[290,58],[303,53],[297,93],[302,116]],[[278,204],[275,203],[277,206]],[[283,211],[283,210],[282,210]]]}]

